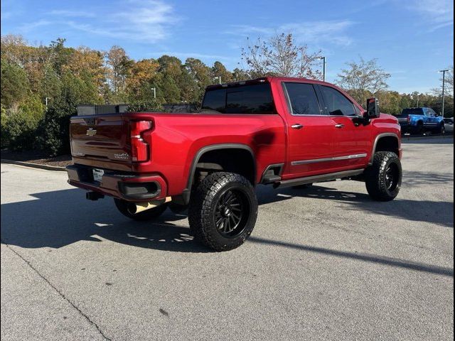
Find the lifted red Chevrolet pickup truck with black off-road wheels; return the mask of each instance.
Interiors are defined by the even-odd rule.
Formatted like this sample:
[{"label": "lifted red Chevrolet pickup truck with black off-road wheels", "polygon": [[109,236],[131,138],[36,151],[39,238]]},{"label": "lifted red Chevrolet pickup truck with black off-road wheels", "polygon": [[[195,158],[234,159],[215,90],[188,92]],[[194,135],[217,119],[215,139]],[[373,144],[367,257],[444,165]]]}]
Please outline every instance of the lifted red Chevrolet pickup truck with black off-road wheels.
[{"label": "lifted red Chevrolet pickup truck with black off-road wheels", "polygon": [[188,208],[196,239],[234,249],[255,227],[258,184],[363,180],[374,200],[397,196],[400,125],[367,107],[326,82],[264,77],[207,87],[197,114],[75,116],[68,182],[133,220]]}]

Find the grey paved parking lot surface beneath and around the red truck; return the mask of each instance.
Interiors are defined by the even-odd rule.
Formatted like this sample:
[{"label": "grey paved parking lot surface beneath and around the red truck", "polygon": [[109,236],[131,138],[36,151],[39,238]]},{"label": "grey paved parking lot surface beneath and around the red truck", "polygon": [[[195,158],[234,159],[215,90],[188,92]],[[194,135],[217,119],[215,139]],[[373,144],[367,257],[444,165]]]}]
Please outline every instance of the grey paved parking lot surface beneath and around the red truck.
[{"label": "grey paved parking lot surface beneath and around the red truck", "polygon": [[[452,140],[453,141],[453,140]],[[454,146],[405,144],[402,192],[258,190],[249,242],[130,222],[65,173],[1,165],[2,340],[449,340]]]}]

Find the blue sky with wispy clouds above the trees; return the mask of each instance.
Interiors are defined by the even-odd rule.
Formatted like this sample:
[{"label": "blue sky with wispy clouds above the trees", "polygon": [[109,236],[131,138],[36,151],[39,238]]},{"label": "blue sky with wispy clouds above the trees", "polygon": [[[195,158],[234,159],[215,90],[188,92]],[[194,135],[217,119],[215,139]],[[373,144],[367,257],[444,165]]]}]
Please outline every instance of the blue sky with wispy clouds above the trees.
[{"label": "blue sky with wispy clouds above the trees", "polygon": [[440,85],[437,70],[454,63],[453,18],[449,0],[1,1],[1,34],[36,45],[62,37],[73,47],[120,45],[134,59],[191,56],[232,70],[248,36],[289,32],[323,51],[329,82],[361,55],[378,58],[400,92]]}]

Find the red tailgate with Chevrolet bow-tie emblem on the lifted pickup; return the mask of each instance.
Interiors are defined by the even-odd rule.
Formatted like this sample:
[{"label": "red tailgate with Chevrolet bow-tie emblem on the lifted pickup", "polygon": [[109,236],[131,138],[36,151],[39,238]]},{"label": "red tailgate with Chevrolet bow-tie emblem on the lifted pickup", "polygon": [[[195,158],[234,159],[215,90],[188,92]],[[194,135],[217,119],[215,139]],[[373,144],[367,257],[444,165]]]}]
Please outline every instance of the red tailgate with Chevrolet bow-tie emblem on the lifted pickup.
[{"label": "red tailgate with Chevrolet bow-tie emblem on the lifted pickup", "polygon": [[132,163],[128,121],[122,114],[72,117],[70,137],[77,163],[98,161],[100,166],[119,170],[127,170]]}]

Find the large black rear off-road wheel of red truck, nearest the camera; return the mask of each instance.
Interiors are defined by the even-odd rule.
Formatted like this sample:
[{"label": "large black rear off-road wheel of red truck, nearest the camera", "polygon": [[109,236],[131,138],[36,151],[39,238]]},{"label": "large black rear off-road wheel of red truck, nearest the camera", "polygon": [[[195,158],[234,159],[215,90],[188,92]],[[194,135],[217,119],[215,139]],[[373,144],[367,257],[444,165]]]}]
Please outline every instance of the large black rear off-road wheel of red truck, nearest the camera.
[{"label": "large black rear off-road wheel of red truck, nearest the camera", "polygon": [[[227,195],[237,198],[240,205],[230,207]],[[225,201],[223,201],[225,200]],[[225,206],[223,206],[226,204]],[[240,207],[240,213],[237,212]],[[232,208],[232,211],[229,209]],[[228,209],[228,213],[225,213]],[[223,210],[223,217],[220,215]],[[235,211],[233,211],[235,210]],[[235,212],[239,222],[234,224],[231,234],[223,231],[226,220],[231,224],[229,212]],[[257,198],[250,181],[235,173],[217,172],[204,178],[191,194],[188,220],[191,234],[198,242],[215,251],[228,251],[240,247],[250,237],[257,218]],[[222,219],[220,227],[220,219]],[[234,217],[232,217],[234,220]],[[237,226],[237,227],[236,227]]]}]

